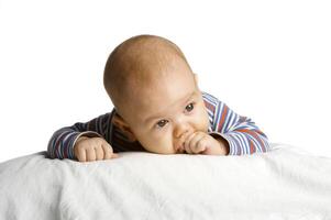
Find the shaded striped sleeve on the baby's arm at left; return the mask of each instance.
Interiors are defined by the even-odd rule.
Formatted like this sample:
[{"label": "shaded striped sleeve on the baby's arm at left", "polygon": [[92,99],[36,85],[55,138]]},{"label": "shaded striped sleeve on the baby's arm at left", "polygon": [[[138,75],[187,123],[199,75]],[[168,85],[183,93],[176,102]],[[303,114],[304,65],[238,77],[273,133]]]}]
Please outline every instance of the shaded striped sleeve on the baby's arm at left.
[{"label": "shaded striped sleeve on the baby's arm at left", "polygon": [[110,120],[113,112],[99,116],[86,123],[77,122],[54,132],[47,145],[48,157],[76,160],[74,145],[79,136],[100,136],[109,141]]}]

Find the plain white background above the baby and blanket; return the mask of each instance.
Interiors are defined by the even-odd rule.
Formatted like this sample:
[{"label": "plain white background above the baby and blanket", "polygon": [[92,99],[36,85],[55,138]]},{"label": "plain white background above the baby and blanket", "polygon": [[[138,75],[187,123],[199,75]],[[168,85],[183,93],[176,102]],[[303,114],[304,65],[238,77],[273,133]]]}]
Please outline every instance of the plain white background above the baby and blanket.
[{"label": "plain white background above the baby and blanket", "polygon": [[0,162],[110,111],[106,59],[137,34],[175,42],[200,89],[271,142],[331,156],[329,2],[0,0]]}]

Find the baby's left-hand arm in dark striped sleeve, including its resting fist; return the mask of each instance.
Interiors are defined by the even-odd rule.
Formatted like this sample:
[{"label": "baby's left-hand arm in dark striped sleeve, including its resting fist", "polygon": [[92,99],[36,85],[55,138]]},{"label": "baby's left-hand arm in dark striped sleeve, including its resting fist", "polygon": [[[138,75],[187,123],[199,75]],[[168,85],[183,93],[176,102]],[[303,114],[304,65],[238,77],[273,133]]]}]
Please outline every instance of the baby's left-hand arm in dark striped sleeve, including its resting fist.
[{"label": "baby's left-hand arm in dark striped sleeve, including its resting fist", "polygon": [[[87,123],[78,122],[71,127],[57,130],[48,142],[48,156],[51,158],[78,158],[80,161],[77,154],[81,156],[82,150],[86,150],[85,152],[88,153],[89,148],[96,146],[96,158],[98,158],[98,156],[100,157],[100,150],[104,150],[103,157],[107,158],[110,152],[107,151],[108,148],[103,148],[103,146],[108,144],[106,140],[109,140],[111,117],[112,113],[106,113]],[[91,139],[89,141],[85,140],[88,138]],[[79,145],[79,147],[76,145]],[[109,144],[108,146],[111,148]],[[87,155],[85,155],[85,158],[89,161]]]}]

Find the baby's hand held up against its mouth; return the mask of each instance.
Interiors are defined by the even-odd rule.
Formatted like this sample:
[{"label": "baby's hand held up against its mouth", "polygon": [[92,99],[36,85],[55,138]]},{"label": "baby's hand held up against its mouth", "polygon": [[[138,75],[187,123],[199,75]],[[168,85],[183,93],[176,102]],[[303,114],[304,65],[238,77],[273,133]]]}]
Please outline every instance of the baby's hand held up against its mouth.
[{"label": "baby's hand held up against its mouth", "polygon": [[227,155],[227,141],[216,140],[205,132],[195,132],[186,138],[184,143],[188,154]]}]

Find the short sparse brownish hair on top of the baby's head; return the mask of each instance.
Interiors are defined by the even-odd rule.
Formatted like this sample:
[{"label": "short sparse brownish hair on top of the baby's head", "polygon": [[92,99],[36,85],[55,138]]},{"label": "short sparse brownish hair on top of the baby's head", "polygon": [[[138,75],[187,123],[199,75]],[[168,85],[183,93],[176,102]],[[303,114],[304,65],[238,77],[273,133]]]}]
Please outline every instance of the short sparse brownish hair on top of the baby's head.
[{"label": "short sparse brownish hair on top of the baby's head", "polygon": [[180,58],[190,69],[180,48],[164,37],[137,35],[118,45],[109,55],[103,73],[103,86],[117,111],[121,114],[120,106],[134,92],[130,82],[140,85],[148,80],[174,58]]}]

